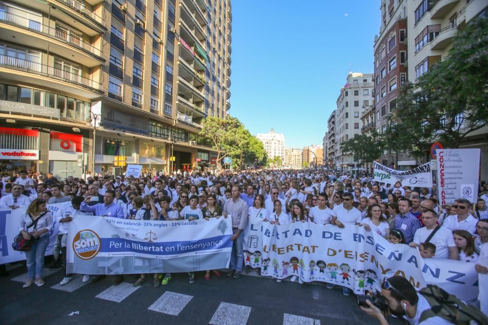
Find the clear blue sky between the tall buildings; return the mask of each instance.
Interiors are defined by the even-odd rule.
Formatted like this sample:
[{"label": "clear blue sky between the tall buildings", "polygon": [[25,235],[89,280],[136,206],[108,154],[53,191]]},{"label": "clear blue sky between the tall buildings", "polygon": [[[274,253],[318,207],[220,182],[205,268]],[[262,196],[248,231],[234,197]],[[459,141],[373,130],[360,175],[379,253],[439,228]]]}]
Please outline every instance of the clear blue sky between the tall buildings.
[{"label": "clear blue sky between the tall buildings", "polygon": [[374,73],[379,0],[233,0],[230,114],[286,147],[322,144],[346,76]]}]

